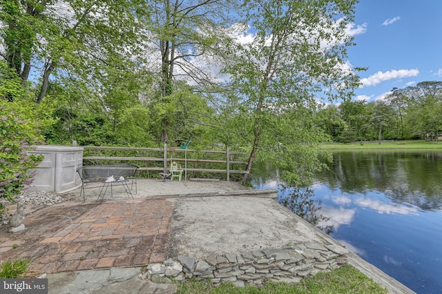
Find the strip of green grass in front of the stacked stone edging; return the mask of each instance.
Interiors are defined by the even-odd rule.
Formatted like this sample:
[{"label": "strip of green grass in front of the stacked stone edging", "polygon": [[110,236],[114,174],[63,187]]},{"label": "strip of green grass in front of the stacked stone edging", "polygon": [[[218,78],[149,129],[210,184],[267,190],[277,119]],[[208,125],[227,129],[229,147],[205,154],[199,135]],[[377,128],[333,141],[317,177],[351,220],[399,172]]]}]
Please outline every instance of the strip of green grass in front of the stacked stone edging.
[{"label": "strip of green grass in front of the stacked stone edging", "polygon": [[353,266],[347,265],[330,273],[318,273],[299,283],[268,282],[264,286],[236,287],[232,283],[214,286],[209,281],[186,280],[178,283],[180,294],[284,294],[284,293],[388,293],[385,288],[363,275]]}]

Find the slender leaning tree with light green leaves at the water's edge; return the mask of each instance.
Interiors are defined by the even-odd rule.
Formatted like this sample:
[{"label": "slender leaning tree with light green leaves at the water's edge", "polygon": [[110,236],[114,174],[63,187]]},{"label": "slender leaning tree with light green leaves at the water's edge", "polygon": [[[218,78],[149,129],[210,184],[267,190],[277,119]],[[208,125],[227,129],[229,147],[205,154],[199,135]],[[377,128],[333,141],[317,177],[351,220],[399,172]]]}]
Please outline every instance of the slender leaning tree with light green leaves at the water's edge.
[{"label": "slender leaning tree with light green leaves at the water's edge", "polygon": [[[353,19],[355,2],[244,1],[246,21],[255,34],[250,43],[231,48],[225,72],[250,114],[247,125],[253,126],[248,172],[258,155],[292,167],[286,177],[294,181],[309,179],[321,168],[315,155],[318,141],[325,138],[313,124],[316,99],[349,99],[358,85],[343,60],[352,44],[345,27]],[[290,137],[282,136],[287,132]]]}]

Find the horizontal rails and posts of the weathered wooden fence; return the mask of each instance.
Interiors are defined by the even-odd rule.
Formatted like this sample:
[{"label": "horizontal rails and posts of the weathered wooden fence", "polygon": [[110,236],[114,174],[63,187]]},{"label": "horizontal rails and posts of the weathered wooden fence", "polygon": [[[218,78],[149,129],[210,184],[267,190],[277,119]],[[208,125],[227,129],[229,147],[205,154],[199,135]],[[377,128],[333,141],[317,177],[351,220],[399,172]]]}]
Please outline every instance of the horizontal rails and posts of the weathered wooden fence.
[{"label": "horizontal rails and posts of the weathered wooden fence", "polygon": [[[247,153],[242,152],[233,152],[227,148],[225,151],[220,150],[192,150],[192,149],[180,149],[175,147],[167,147],[167,144],[164,144],[164,148],[140,148],[140,147],[112,147],[112,146],[81,146],[84,150],[99,150],[106,152],[107,150],[115,150],[115,151],[126,151],[126,152],[140,152],[140,153],[157,153],[158,157],[151,156],[107,156],[107,155],[90,155],[84,156],[83,162],[86,165],[87,163],[93,162],[94,164],[97,161],[136,161],[142,162],[145,166],[140,165],[139,170],[146,171],[162,171],[166,173],[172,161],[184,165],[184,171],[187,175],[189,172],[195,173],[226,173],[227,181],[230,180],[231,174],[247,174],[248,172],[242,168],[243,166],[247,166],[247,161],[241,160],[233,160],[233,157],[240,156],[244,157]],[[102,153],[102,152],[100,152]],[[181,157],[175,157],[175,153],[180,153]],[[195,155],[203,154],[203,155],[213,155],[215,157],[219,157],[218,159],[201,159],[197,158]],[[182,157],[184,155],[184,157]],[[159,163],[162,162],[162,166],[159,166]],[[156,166],[155,166],[155,163]],[[195,167],[196,164],[210,164],[220,166],[220,168],[201,168]],[[225,166],[225,168],[223,167]],[[236,167],[235,169],[232,168]]]}]

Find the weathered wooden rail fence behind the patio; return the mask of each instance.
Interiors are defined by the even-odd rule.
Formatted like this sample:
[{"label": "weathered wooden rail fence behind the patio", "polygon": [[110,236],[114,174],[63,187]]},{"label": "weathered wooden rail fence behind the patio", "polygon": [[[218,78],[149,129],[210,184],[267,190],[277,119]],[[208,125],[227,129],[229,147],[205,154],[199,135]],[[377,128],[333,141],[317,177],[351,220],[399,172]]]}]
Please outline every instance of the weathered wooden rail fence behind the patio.
[{"label": "weathered wooden rail fence behind the patio", "polygon": [[[175,161],[188,173],[222,173],[226,174],[227,181],[231,174],[247,174],[245,169],[247,161],[233,160],[234,157],[243,159],[247,153],[233,152],[227,148],[220,150],[192,150],[174,147],[164,148],[132,148],[132,147],[111,147],[111,146],[80,146],[86,153],[83,157],[84,165],[100,164],[102,161],[125,161],[137,164],[141,171],[158,171],[165,173],[171,162]],[[130,153],[135,156],[125,156]],[[148,154],[148,156],[145,156]],[[153,155],[153,156],[151,156]],[[180,156],[180,157],[176,157]],[[218,157],[218,159],[207,159],[206,157]],[[209,166],[204,168],[202,166]],[[216,167],[216,168],[213,168]]]}]

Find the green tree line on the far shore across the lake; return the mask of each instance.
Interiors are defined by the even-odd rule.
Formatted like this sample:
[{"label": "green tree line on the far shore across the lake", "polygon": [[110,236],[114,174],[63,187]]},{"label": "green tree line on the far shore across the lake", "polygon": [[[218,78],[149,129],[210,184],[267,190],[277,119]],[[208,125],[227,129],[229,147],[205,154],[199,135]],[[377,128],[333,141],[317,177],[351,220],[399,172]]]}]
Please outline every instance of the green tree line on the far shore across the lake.
[{"label": "green tree line on the far shore across the lake", "polygon": [[427,139],[442,135],[442,81],[423,81],[416,86],[394,88],[384,101],[344,101],[338,106],[344,124],[336,136],[331,128],[336,117],[329,108],[319,110],[320,128],[343,143],[380,139]]}]

